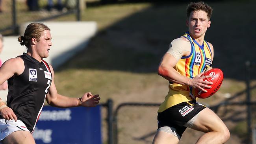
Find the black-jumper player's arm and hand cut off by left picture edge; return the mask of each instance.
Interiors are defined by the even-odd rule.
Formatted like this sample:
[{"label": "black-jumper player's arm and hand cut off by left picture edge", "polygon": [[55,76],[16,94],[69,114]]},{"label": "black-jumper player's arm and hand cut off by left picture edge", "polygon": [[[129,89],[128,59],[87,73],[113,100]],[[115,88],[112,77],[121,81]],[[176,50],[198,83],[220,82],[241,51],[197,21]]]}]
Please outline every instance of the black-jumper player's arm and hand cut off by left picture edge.
[{"label": "black-jumper player's arm and hand cut off by left picture edge", "polygon": [[[20,57],[12,58],[3,63],[0,67],[0,84],[7,81],[13,75],[20,75],[24,71],[24,62]],[[0,98],[0,114],[2,118],[6,120],[15,120],[17,122],[17,116],[13,113],[13,110],[1,100]]]}]

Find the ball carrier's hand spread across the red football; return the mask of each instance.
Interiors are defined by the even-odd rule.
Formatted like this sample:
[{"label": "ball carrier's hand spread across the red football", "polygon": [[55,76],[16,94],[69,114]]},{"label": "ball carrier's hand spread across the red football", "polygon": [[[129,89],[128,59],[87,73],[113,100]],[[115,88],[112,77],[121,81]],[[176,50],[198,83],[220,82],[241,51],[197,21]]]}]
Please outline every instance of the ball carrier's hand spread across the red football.
[{"label": "ball carrier's hand spread across the red football", "polygon": [[201,72],[195,78],[190,80],[190,86],[195,88],[195,89],[200,89],[203,92],[207,92],[204,88],[211,89],[211,86],[213,83],[210,81],[204,81],[206,78],[211,78],[211,76],[202,76],[204,72]]}]

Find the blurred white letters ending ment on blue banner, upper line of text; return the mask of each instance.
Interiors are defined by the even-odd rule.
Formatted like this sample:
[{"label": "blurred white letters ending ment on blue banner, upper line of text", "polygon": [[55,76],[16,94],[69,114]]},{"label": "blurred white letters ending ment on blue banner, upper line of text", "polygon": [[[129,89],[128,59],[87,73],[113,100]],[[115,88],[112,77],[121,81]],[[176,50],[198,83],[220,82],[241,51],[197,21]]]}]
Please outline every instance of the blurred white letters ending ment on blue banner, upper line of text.
[{"label": "blurred white letters ending ment on blue banner, upper line of text", "polygon": [[58,121],[58,120],[71,120],[70,109],[60,111],[42,111],[39,121]]}]

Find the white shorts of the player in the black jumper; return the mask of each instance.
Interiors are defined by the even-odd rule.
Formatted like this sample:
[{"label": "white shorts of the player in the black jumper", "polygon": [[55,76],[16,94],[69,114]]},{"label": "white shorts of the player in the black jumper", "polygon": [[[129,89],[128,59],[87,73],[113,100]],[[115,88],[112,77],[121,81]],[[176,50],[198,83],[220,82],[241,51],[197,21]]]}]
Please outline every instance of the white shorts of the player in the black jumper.
[{"label": "white shorts of the player in the black jumper", "polygon": [[[17,120],[5,120],[4,118],[0,118],[0,140],[3,140],[8,135],[15,131],[29,131],[25,124]],[[30,131],[29,131],[30,132]]]}]

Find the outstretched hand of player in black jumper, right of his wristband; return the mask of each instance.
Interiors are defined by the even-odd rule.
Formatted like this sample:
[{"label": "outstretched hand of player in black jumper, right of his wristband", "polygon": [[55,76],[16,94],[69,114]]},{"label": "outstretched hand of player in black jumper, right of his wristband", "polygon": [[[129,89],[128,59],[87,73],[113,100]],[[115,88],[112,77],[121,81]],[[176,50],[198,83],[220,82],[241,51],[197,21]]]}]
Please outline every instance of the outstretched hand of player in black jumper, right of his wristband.
[{"label": "outstretched hand of player in black jumper, right of his wristband", "polygon": [[92,95],[91,92],[86,92],[80,100],[83,107],[96,107],[100,102],[100,97],[98,94]]}]

